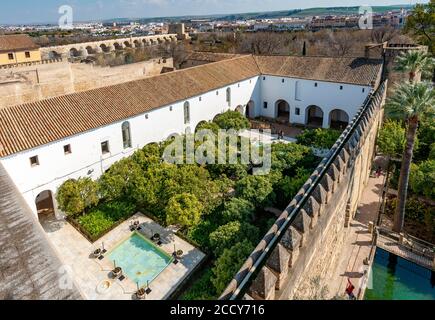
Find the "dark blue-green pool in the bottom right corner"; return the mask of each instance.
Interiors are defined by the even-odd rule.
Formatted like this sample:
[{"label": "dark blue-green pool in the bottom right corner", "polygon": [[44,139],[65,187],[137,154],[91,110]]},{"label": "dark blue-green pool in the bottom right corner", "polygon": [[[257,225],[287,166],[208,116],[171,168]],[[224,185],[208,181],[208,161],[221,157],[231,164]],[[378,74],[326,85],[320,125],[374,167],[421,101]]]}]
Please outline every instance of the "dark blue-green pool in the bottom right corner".
[{"label": "dark blue-green pool in the bottom right corner", "polygon": [[367,288],[365,300],[435,300],[429,269],[377,248],[371,272],[373,288]]}]

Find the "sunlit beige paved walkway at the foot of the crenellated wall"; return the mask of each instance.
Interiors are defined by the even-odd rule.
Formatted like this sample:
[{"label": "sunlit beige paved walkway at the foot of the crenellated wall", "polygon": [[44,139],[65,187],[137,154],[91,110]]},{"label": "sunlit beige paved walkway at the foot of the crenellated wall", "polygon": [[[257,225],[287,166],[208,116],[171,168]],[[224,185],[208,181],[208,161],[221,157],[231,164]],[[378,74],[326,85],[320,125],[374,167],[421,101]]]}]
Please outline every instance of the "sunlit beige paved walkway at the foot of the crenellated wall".
[{"label": "sunlit beige paved walkway at the foot of the crenellated wall", "polygon": [[383,183],[384,176],[370,177],[368,185],[363,191],[357,214],[348,229],[338,272],[331,278],[328,285],[331,298],[345,296],[348,279],[355,286],[355,295],[360,290],[363,276],[367,272],[364,260],[370,255],[372,248],[372,236],[368,231],[368,223],[376,219]]}]

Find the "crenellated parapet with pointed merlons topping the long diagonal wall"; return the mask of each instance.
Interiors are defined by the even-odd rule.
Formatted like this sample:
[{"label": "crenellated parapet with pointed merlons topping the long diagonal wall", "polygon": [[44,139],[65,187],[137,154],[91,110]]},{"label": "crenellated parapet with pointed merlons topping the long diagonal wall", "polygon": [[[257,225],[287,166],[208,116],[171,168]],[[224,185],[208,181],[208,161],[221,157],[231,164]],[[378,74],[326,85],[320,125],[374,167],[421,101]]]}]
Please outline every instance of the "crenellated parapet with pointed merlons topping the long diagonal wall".
[{"label": "crenellated parapet with pointed merlons topping the long diagonal wall", "polygon": [[[310,259],[303,254],[304,247],[317,237],[319,230],[316,226],[322,228],[327,224],[324,215],[328,215],[330,210],[325,210],[325,207],[339,196],[334,193],[353,167],[365,138],[375,124],[385,101],[386,88],[387,81],[384,81],[367,97],[328,156],[321,161],[229,283],[221,300],[246,299],[249,296],[273,299],[275,290],[282,289],[288,269],[295,265],[298,258],[304,260],[302,263],[309,263]],[[322,224],[319,222],[321,219]]]}]

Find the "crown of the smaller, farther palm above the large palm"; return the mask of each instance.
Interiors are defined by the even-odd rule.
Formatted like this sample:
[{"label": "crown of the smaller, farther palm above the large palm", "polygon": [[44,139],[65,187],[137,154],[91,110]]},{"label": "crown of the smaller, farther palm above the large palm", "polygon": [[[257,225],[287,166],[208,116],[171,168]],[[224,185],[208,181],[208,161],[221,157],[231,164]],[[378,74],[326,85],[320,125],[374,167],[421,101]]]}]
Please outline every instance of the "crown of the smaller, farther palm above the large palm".
[{"label": "crown of the smaller, farther palm above the large palm", "polygon": [[396,71],[408,72],[409,81],[414,82],[418,73],[430,77],[435,67],[435,60],[421,50],[410,50],[399,54],[396,59]]}]

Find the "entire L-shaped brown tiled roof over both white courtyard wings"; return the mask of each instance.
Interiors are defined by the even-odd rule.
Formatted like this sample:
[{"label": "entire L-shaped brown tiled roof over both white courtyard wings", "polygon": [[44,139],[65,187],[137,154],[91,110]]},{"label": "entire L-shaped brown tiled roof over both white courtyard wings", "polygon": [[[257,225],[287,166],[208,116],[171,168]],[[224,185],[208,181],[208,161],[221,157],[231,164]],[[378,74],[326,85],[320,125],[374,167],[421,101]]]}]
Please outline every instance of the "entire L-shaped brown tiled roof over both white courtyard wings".
[{"label": "entire L-shaped brown tiled roof over both white courtyard wings", "polygon": [[239,56],[0,110],[0,157],[109,125],[260,74],[374,85],[381,60]]}]

